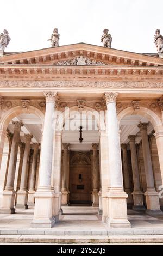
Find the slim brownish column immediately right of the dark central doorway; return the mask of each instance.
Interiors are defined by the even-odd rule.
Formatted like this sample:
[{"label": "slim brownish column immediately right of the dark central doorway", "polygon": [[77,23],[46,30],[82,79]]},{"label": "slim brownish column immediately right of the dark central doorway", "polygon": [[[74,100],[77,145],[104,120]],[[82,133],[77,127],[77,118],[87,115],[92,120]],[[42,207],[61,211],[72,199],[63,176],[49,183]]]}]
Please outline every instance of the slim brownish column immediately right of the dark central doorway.
[{"label": "slim brownish column immediately right of the dark central doorway", "polygon": [[93,149],[93,191],[92,191],[92,206],[99,206],[99,176],[98,176],[98,155],[97,155],[97,143],[92,143],[92,149]]}]

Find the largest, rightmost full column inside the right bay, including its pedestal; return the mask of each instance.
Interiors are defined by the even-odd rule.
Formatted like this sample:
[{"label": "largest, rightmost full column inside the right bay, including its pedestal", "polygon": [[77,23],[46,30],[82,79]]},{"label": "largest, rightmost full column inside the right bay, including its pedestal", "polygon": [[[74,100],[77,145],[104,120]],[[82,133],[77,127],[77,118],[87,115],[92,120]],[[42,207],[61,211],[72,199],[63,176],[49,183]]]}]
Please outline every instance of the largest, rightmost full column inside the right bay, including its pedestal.
[{"label": "largest, rightmost full column inside the right bay, including its pedestal", "polygon": [[139,123],[138,127],[141,131],[142,137],[142,149],[143,149],[143,158],[145,163],[145,173],[146,173],[146,183],[147,190],[145,192],[147,212],[160,212],[160,203],[158,192],[156,192],[154,187],[154,177],[153,177],[153,168],[152,168],[152,159],[151,151],[149,148],[147,127],[149,123]]}]

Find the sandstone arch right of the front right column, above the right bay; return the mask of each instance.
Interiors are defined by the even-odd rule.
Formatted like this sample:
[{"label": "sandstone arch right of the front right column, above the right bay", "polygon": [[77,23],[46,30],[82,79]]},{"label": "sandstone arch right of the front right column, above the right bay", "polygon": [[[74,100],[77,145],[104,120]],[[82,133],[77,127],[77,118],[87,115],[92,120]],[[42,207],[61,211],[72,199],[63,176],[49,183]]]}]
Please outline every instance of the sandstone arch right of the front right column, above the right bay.
[{"label": "sandstone arch right of the front right column, above the right bay", "polygon": [[161,119],[151,109],[148,109],[145,107],[140,107],[140,109],[136,109],[136,110],[134,110],[133,107],[127,107],[123,109],[117,115],[118,126],[120,126],[121,119],[126,115],[142,115],[143,117],[146,117],[151,122],[155,132],[163,131],[163,125],[162,125]]}]

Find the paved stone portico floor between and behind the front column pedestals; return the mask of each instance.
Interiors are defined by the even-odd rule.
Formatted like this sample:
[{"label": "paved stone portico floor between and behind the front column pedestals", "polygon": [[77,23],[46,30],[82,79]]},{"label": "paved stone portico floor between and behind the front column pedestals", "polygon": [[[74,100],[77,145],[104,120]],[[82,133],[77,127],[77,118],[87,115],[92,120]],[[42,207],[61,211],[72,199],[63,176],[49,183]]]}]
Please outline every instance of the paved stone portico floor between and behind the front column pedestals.
[{"label": "paved stone portico floor between and behind the front column pedestals", "polygon": [[[60,221],[55,224],[53,229],[71,230],[71,229],[103,229],[106,224],[102,223],[101,216],[97,214],[98,209],[92,207],[64,207],[63,215]],[[33,220],[32,209],[16,210],[15,214],[0,214],[0,229],[2,228],[30,228],[30,222]],[[163,213],[149,216],[134,210],[128,210],[128,220],[131,228],[134,229],[155,229],[163,230]]]}]

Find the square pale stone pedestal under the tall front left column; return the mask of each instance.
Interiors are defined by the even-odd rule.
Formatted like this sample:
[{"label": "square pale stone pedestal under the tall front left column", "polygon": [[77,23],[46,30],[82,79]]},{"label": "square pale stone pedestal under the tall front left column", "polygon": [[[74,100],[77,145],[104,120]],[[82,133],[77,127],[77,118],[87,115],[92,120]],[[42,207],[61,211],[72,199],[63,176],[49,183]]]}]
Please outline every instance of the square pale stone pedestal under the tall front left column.
[{"label": "square pale stone pedestal under the tall front left column", "polygon": [[53,191],[37,190],[34,194],[35,197],[35,210],[34,219],[30,223],[32,228],[52,228],[58,221],[53,216]]}]

